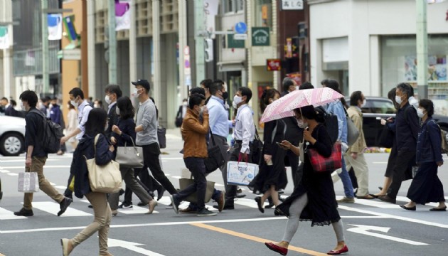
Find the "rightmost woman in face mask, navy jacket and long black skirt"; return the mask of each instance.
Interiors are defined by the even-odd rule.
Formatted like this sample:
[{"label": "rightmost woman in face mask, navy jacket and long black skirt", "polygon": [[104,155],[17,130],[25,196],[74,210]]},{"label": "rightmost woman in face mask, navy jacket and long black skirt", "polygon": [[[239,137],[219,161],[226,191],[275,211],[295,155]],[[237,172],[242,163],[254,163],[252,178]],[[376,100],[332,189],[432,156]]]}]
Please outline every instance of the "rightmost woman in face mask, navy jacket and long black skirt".
[{"label": "rightmost woman in face mask, navy jacket and long black skirt", "polygon": [[439,206],[430,210],[446,210],[442,182],[437,177],[437,169],[442,166],[442,138],[440,127],[432,119],[434,104],[431,100],[420,100],[417,109],[418,116],[422,119],[422,125],[417,139],[417,162],[418,171],[412,179],[407,198],[411,201],[401,208],[405,210],[416,210],[416,204],[425,205],[437,202]]}]

